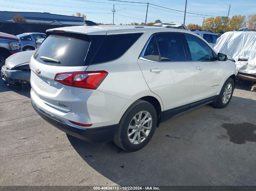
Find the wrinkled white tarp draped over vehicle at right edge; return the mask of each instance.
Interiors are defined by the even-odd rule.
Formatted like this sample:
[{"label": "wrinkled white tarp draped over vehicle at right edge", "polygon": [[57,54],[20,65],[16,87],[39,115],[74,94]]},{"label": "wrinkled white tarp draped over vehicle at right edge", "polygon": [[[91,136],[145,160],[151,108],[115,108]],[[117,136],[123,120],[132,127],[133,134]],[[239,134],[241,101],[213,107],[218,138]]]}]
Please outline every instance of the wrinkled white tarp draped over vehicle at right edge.
[{"label": "wrinkled white tarp draped over vehicle at right edge", "polygon": [[[256,75],[256,32],[226,32],[217,39],[214,49],[218,53],[232,57],[238,72]],[[238,59],[248,59],[248,61],[238,61]]]}]

